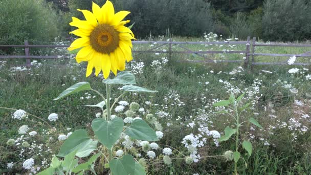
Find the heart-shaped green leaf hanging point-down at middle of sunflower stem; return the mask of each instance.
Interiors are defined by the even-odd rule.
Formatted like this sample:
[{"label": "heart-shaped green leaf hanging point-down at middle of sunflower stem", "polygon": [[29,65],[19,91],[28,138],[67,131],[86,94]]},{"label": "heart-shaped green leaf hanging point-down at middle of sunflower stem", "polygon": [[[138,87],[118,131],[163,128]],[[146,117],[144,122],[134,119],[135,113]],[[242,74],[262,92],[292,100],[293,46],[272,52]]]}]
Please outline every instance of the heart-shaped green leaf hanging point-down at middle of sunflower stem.
[{"label": "heart-shaped green leaf hanging point-down at middle of sunflower stem", "polygon": [[102,118],[94,119],[92,122],[92,128],[95,135],[108,149],[111,149],[120,138],[123,126],[124,122],[119,117],[116,117],[108,122]]}]

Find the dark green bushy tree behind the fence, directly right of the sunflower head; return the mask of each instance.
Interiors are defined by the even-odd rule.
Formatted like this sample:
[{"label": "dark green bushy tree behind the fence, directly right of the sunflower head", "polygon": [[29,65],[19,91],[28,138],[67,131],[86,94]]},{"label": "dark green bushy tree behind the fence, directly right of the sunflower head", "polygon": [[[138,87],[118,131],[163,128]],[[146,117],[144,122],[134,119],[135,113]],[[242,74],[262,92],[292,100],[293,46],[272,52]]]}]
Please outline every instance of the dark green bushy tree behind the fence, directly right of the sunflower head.
[{"label": "dark green bushy tree behind the fence, directly right of the sunflower head", "polygon": [[129,19],[138,37],[164,34],[169,28],[174,35],[199,36],[212,31],[213,19],[209,3],[202,0],[123,0],[123,8],[131,12]]}]

